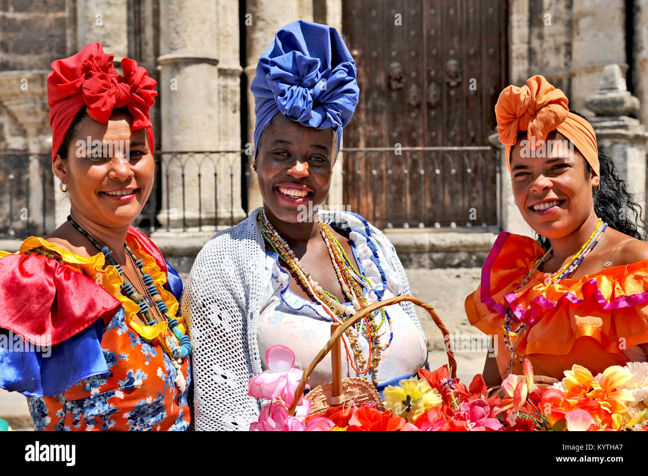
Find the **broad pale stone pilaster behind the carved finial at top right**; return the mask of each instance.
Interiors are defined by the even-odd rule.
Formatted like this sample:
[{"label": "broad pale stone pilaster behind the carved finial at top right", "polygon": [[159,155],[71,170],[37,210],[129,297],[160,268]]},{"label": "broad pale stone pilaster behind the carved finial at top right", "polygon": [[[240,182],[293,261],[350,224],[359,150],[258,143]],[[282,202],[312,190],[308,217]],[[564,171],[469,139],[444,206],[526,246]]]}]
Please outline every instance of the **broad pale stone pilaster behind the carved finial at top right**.
[{"label": "broad pale stone pilaster behind the carved finial at top right", "polygon": [[573,0],[572,87],[570,108],[589,115],[584,100],[597,89],[605,65],[615,63],[625,74],[625,2]]}]

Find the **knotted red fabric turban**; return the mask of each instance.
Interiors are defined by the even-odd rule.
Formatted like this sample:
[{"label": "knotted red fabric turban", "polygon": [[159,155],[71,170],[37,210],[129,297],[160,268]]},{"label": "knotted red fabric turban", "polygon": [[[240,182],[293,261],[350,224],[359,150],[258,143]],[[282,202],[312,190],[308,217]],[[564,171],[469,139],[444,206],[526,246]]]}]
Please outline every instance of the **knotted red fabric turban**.
[{"label": "knotted red fabric turban", "polygon": [[52,63],[47,75],[47,104],[52,126],[52,161],[67,130],[82,108],[102,124],[108,123],[113,109],[128,108],[133,130],[146,129],[148,146],[153,150],[153,128],[148,111],[153,106],[157,82],[137,62],[124,58],[124,76],[113,66],[113,55],[104,53],[97,42],[80,52]]}]

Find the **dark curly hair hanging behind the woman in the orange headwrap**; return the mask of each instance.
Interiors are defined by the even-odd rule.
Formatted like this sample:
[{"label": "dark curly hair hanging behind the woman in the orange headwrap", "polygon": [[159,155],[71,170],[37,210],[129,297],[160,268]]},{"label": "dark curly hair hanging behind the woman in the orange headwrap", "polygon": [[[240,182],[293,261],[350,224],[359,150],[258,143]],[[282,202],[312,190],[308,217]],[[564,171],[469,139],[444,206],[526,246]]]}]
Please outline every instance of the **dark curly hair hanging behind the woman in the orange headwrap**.
[{"label": "dark curly hair hanging behind the woman in the orange headwrap", "polygon": [[[576,111],[570,112],[587,119]],[[574,149],[577,150],[575,146]],[[592,188],[596,216],[616,231],[638,240],[646,240],[648,228],[642,218],[642,206],[636,202],[634,195],[628,190],[626,181],[619,177],[614,158],[601,146],[599,146],[599,163],[601,166],[600,189]],[[592,173],[592,167],[587,161],[585,161],[585,173],[587,177]],[[538,234],[536,241],[545,250],[551,247],[549,240],[544,236]]]}]

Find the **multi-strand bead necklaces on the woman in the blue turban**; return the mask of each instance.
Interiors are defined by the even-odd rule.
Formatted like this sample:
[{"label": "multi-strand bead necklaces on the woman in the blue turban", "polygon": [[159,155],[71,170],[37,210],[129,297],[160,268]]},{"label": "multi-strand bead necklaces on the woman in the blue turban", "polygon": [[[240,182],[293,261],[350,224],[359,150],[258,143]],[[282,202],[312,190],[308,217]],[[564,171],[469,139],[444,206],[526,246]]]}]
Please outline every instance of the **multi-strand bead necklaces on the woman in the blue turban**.
[{"label": "multi-strand bead necklaces on the woman in the blue turban", "polygon": [[[329,251],[330,260],[335,269],[338,281],[340,282],[340,288],[351,302],[351,306],[343,304],[340,299],[329,291],[322,289],[318,282],[312,279],[310,273],[301,266],[301,263],[297,256],[295,256],[294,251],[290,249],[290,246],[281,237],[279,232],[274,229],[272,223],[270,223],[266,216],[265,210],[262,209],[259,212],[257,222],[259,223],[259,228],[264,240],[270,244],[281,260],[288,265],[288,268],[292,271],[292,275],[297,278],[301,287],[305,289],[314,302],[321,304],[322,308],[330,315],[334,322],[343,323],[347,319],[351,318],[354,313],[360,312],[360,310],[369,305],[369,302],[367,302],[367,299],[364,297],[364,289],[366,288],[371,291],[373,288],[371,281],[365,278],[362,273],[353,266],[353,262],[349,260],[349,256],[347,256],[347,253],[344,251],[340,242],[338,242],[330,229],[322,223],[321,220],[319,220],[319,217],[318,225],[320,234],[326,244],[327,250]],[[380,308],[380,315],[382,319],[379,323],[376,323],[373,316],[365,317],[361,323],[357,324],[356,328],[347,329],[345,333],[347,339],[342,339],[351,368],[353,368],[357,374],[365,377],[371,374],[371,378],[375,384],[378,381],[380,352],[388,348],[393,339],[393,330],[389,313],[384,308]],[[389,341],[386,344],[381,345],[380,337],[384,333],[379,334],[379,332],[385,321],[387,321],[389,326]],[[367,343],[369,343],[369,356],[367,358],[363,356],[360,344],[358,343],[359,335],[364,335],[367,339]],[[351,350],[349,350],[349,345],[351,346],[351,350],[353,350],[353,356]]]}]

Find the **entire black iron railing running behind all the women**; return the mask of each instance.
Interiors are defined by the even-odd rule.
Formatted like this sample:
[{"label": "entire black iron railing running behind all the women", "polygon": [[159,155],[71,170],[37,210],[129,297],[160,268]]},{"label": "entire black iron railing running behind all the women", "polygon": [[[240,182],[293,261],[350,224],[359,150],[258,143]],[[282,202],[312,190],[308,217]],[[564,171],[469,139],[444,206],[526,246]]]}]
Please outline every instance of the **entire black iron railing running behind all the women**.
[{"label": "entire black iron railing running behind all the women", "polygon": [[[499,227],[490,147],[346,148],[345,209],[388,227]],[[244,150],[156,152],[154,189],[135,224],[145,232],[211,231],[248,215]],[[60,192],[51,155],[0,152],[0,237],[54,229]]]}]

